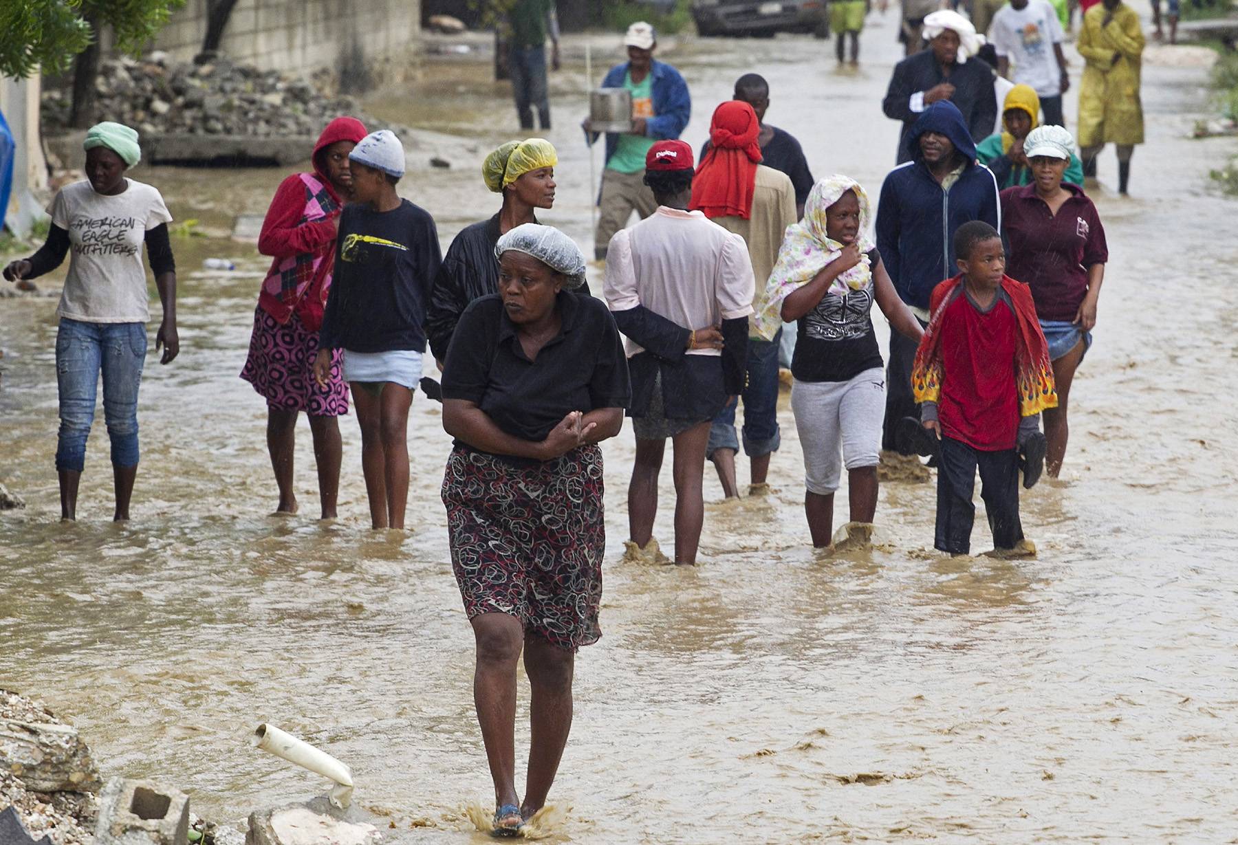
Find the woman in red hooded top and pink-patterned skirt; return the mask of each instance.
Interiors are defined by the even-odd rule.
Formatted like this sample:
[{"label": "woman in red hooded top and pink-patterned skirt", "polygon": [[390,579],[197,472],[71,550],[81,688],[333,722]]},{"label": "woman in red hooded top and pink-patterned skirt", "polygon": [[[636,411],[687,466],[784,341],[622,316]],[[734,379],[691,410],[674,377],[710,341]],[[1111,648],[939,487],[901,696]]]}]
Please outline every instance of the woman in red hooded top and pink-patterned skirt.
[{"label": "woman in red hooded top and pink-patterned skirt", "polygon": [[353,189],[348,153],[363,137],[365,126],[353,118],[327,124],[311,157],[313,173],[293,173],[280,183],[258,238],[258,251],[274,261],[258,297],[240,377],[266,400],[266,448],[280,489],[276,513],[297,512],[292,460],[297,416],[305,412],[318,463],[322,518],[335,517],[342,450],[335,418],[348,413],[348,385],[339,350],[332,354],[326,386],[314,379],[313,362],[335,265],[339,210]]}]

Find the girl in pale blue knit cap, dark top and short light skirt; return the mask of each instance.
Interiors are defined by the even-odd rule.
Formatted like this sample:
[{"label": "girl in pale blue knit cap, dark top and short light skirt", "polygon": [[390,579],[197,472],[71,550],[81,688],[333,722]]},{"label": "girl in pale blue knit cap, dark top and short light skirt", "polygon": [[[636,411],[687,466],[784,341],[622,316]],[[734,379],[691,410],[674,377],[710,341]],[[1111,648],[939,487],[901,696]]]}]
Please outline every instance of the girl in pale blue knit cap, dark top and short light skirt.
[{"label": "girl in pale blue knit cap, dark top and short light skirt", "polygon": [[426,351],[426,302],[442,254],[435,220],[396,193],[404,146],[366,135],[348,156],[353,199],[339,217],[335,277],[327,297],[314,379],[344,350],[344,381],[361,427],[361,469],[375,528],[404,528],[409,499],[409,406]]}]

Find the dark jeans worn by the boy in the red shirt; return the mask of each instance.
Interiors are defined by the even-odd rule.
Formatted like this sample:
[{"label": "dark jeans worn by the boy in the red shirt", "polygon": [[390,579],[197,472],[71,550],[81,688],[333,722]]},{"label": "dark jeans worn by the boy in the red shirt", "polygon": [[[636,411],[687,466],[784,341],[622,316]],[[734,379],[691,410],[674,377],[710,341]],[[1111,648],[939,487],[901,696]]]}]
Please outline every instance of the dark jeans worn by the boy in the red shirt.
[{"label": "dark jeans worn by the boy in the red shirt", "polygon": [[933,547],[951,554],[972,548],[976,470],[980,470],[980,499],[989,513],[994,548],[1014,548],[1023,539],[1019,522],[1019,450],[980,452],[950,437],[941,438],[937,464],[937,534]]}]

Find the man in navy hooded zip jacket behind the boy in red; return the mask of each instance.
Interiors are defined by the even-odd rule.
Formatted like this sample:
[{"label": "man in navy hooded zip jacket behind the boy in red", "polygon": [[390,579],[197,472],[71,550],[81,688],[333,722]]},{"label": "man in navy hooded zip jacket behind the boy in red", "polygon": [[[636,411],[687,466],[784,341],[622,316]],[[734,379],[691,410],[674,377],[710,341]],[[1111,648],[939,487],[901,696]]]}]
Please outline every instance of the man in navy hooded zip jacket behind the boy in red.
[{"label": "man in navy hooded zip jacket behind the boy in red", "polygon": [[[881,184],[877,207],[877,249],[894,290],[922,324],[928,323],[928,296],[954,275],[954,230],[984,220],[1002,230],[998,182],[976,161],[976,144],[963,114],[950,100],[925,109],[907,134],[904,156]],[[895,450],[894,433],[904,417],[916,414],[911,364],[916,344],[890,333],[886,365],[885,426],[881,449]]]}]

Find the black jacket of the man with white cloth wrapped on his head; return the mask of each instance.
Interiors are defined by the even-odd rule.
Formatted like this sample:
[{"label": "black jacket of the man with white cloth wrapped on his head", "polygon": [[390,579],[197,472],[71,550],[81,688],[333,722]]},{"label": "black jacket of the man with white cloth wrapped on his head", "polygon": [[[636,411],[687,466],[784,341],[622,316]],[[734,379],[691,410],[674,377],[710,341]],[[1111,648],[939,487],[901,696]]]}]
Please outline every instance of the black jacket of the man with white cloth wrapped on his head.
[{"label": "black jacket of the man with white cloth wrapped on his head", "polygon": [[[972,135],[972,140],[979,142],[993,134],[993,125],[998,120],[998,101],[993,93],[993,68],[983,59],[969,58],[963,64],[956,64],[950,78],[941,72],[941,64],[931,49],[924,49],[915,56],[909,56],[894,66],[894,75],[890,78],[890,88],[885,92],[885,100],[881,101],[881,110],[891,120],[903,121],[903,131],[899,132],[899,163],[911,161],[906,150],[906,137],[911,126],[922,113],[911,110],[911,95],[916,92],[926,92],[933,85],[948,82],[954,87],[951,101],[963,113],[963,122]],[[884,257],[884,252],[881,254]]]}]

